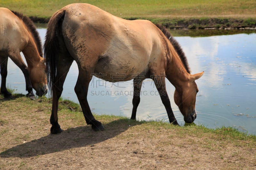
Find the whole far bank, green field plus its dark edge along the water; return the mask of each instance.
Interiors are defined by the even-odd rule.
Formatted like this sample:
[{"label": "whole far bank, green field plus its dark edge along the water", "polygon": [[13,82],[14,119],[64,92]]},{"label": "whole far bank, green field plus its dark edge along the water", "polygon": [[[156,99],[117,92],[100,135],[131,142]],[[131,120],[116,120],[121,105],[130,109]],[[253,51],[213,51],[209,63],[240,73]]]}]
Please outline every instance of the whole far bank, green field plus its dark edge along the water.
[{"label": "whole far bank, green field plus its dark edge along the water", "polygon": [[219,29],[256,26],[255,0],[2,0],[0,6],[22,12],[36,22],[48,22],[55,11],[74,2],[93,4],[121,18],[149,19],[168,28]]}]

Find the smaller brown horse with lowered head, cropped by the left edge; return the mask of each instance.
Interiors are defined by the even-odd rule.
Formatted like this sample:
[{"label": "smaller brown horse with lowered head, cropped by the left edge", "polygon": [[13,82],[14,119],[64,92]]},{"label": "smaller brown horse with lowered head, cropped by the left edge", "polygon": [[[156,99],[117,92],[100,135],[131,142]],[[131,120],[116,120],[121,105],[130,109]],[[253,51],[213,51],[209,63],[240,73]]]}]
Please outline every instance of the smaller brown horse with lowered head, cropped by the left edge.
[{"label": "smaller brown horse with lowered head, cropped by the left edge", "polygon": [[[25,76],[27,97],[35,99],[36,95],[47,93],[47,80],[42,43],[36,27],[26,16],[7,8],[0,8],[0,68],[1,68],[1,93],[4,98],[12,99],[12,94],[6,89],[8,56],[21,69]],[[23,62],[20,52],[27,61],[28,67]]]}]

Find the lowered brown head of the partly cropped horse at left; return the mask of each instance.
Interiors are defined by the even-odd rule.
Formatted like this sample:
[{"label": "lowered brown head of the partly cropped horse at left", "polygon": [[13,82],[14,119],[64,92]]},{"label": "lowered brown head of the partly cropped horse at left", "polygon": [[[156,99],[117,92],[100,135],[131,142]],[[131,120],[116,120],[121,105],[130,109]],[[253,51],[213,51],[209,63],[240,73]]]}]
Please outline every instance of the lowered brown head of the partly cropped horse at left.
[{"label": "lowered brown head of the partly cropped horse at left", "polygon": [[30,80],[36,90],[36,95],[44,96],[47,93],[48,87],[43,57],[40,57],[40,62],[30,69]]}]

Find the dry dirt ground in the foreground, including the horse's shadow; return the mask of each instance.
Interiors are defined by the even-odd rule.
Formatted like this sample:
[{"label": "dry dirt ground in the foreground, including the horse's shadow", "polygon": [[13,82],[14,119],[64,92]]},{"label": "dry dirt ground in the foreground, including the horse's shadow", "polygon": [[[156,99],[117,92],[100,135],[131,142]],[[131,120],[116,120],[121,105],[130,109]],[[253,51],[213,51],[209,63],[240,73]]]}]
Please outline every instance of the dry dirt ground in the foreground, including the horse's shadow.
[{"label": "dry dirt ground in the foreground, including the horse's shadow", "polygon": [[31,109],[31,102],[38,101],[0,100],[0,169],[256,169],[247,140],[229,143],[189,127],[99,116],[106,130],[95,132],[83,116],[60,111],[64,131],[52,135],[50,105]]}]

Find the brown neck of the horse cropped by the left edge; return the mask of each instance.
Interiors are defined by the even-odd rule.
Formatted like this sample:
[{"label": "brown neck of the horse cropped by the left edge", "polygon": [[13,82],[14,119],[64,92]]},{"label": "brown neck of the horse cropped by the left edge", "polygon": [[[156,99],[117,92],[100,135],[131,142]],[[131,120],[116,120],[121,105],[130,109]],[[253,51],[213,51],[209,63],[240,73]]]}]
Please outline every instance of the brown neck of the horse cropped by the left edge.
[{"label": "brown neck of the horse cropped by the left edge", "polygon": [[28,41],[26,47],[22,50],[22,53],[25,56],[25,59],[28,64],[28,68],[31,68],[31,67],[37,65],[37,63],[40,61],[40,55],[36,48],[36,43],[30,33],[29,33],[28,37],[29,37],[29,41]]}]

